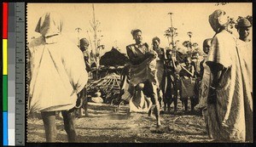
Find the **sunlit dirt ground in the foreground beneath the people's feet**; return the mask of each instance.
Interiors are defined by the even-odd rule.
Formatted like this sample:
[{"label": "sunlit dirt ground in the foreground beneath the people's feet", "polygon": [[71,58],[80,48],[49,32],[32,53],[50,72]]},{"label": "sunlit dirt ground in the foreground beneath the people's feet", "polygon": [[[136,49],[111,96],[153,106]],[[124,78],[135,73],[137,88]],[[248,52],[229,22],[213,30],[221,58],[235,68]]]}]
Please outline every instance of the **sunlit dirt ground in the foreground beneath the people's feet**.
[{"label": "sunlit dirt ground in the foreground beneath the people's feet", "polygon": [[[76,119],[79,143],[191,143],[210,142],[203,116],[183,114],[178,103],[177,114],[161,114],[162,127],[156,129],[154,115],[131,113],[128,105],[117,111],[113,105],[89,103],[89,117]],[[173,110],[173,108],[172,108]],[[61,118],[56,120],[57,142],[67,142]],[[27,142],[45,142],[40,114],[27,119]]]}]

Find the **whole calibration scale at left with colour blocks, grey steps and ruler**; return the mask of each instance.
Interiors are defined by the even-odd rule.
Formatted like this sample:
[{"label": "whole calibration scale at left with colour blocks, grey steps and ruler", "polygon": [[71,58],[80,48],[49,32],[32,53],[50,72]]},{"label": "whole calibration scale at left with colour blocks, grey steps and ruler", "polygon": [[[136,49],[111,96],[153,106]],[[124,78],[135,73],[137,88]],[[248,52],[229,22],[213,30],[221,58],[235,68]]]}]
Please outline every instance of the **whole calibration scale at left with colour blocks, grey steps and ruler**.
[{"label": "whole calibration scale at left with colour blocks, grey steps and ruler", "polygon": [[[3,145],[15,146],[16,145],[16,41],[24,40],[24,37],[17,38],[16,20],[16,3],[2,3],[3,4]],[[24,9],[24,7],[22,7]],[[24,14],[24,11],[20,11]],[[23,25],[25,28],[24,20],[22,17]],[[22,30],[20,33],[24,34]],[[19,41],[20,41],[19,40]],[[24,41],[22,42],[24,43]],[[20,48],[24,49],[24,48]],[[24,70],[24,68],[22,68]],[[22,78],[24,79],[24,77]],[[24,85],[24,83],[23,83]],[[21,93],[22,94],[22,93]],[[24,96],[23,96],[24,97]],[[21,111],[19,112],[22,113]],[[22,116],[24,117],[24,116]],[[23,122],[24,118],[21,119]],[[25,123],[25,122],[24,122]],[[24,125],[23,123],[23,125]],[[22,126],[24,127],[24,126]],[[22,130],[22,129],[21,129]],[[21,135],[21,133],[20,133]],[[18,140],[19,144],[24,143],[24,135],[22,131],[22,141]]]}]

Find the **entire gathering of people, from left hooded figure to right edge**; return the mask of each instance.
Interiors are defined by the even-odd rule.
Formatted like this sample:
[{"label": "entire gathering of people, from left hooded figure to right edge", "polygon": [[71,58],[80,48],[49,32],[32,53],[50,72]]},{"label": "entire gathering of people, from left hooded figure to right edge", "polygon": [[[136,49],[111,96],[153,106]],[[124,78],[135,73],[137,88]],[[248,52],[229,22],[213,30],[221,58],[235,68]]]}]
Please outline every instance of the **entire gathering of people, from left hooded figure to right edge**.
[{"label": "entire gathering of people, from left hooded figure to right edge", "polygon": [[[216,32],[206,38],[203,51],[207,57],[199,60],[199,53],[177,60],[172,49],[160,48],[160,38],[152,39],[152,47],[143,42],[143,31],[131,31],[135,40],[126,47],[130,59],[127,92],[130,103],[144,99],[139,105],[160,127],[160,110],[177,112],[177,99],[183,102],[185,113],[198,105],[206,122],[209,138],[217,141],[253,141],[253,85],[252,43],[248,36],[252,24],[241,18],[234,37],[228,30],[228,14],[216,10],[209,15],[209,23]],[[89,42],[80,40],[79,48],[61,35],[62,20],[58,14],[47,13],[39,20],[36,31],[42,36],[29,43],[28,110],[40,111],[47,142],[55,142],[55,112],[61,111],[69,142],[76,141],[73,111],[77,99],[85,97],[88,81],[87,48]],[[82,50],[82,52],[81,52]],[[84,64],[85,63],[85,64]],[[87,70],[87,71],[86,71]],[[126,83],[126,82],[125,82]],[[149,99],[148,99],[149,98]],[[126,99],[127,100],[127,99]],[[162,105],[162,103],[164,105]]]}]

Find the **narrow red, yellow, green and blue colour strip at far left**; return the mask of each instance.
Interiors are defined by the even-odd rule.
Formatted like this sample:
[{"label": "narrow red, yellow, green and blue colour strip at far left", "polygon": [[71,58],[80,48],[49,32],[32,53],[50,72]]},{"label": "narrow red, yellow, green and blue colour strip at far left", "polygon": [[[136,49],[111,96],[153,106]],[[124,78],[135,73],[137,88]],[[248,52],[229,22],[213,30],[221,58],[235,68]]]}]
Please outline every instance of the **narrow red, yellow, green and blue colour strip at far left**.
[{"label": "narrow red, yellow, green and blue colour strip at far left", "polygon": [[3,145],[8,139],[8,3],[3,3]]}]

